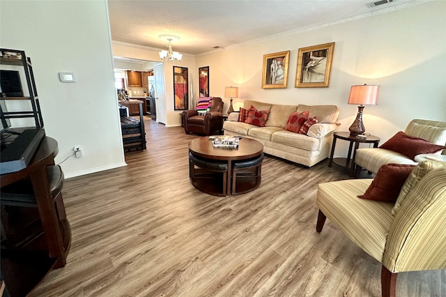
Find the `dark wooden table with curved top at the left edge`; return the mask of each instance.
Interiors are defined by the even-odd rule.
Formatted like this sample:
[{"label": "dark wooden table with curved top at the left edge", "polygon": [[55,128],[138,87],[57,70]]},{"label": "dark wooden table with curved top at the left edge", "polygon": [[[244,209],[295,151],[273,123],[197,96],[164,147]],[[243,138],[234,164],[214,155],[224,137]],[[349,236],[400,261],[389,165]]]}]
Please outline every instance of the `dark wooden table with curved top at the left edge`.
[{"label": "dark wooden table with curved top at the left edge", "polygon": [[[29,165],[0,176],[1,188],[30,178],[43,231],[24,246],[1,250],[1,275],[10,296],[25,296],[52,268],[66,265],[71,243],[70,223],[62,199],[54,201],[49,188],[47,166],[54,165],[59,149],[55,139],[44,137]],[[61,215],[63,212],[63,215]]]}]

